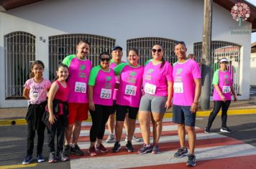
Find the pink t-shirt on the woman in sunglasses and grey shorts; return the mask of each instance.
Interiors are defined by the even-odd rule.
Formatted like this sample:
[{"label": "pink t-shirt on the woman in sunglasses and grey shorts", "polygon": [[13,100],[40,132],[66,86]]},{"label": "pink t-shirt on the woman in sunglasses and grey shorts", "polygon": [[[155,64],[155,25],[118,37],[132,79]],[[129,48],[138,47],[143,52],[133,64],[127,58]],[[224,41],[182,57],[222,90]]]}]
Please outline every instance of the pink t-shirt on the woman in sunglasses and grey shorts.
[{"label": "pink t-shirt on the woman in sunglasses and grey shorts", "polygon": [[148,62],[143,74],[143,90],[145,93],[155,96],[168,96],[168,82],[173,82],[173,67],[165,61],[160,68],[161,63],[153,65]]}]

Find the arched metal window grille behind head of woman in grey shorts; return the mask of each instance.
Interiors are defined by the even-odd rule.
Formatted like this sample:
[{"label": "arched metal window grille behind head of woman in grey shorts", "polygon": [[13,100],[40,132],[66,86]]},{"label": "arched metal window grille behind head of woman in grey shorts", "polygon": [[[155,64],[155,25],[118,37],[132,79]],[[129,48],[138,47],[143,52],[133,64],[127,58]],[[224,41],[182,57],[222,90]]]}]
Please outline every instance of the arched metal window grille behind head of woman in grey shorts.
[{"label": "arched metal window grille behind head of woman in grey shorts", "polygon": [[135,48],[139,50],[140,60],[139,63],[144,65],[144,63],[152,58],[151,49],[154,44],[161,44],[164,49],[164,58],[170,64],[177,62],[177,58],[174,54],[174,46],[178,41],[172,39],[165,39],[160,37],[142,37],[137,39],[127,40],[127,54],[129,49]]}]

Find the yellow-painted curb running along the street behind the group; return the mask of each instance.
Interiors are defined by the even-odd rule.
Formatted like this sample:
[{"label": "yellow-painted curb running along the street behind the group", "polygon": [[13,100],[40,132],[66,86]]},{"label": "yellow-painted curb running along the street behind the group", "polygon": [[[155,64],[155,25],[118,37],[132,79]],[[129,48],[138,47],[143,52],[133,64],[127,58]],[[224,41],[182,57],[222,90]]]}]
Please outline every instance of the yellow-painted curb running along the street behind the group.
[{"label": "yellow-painted curb running along the street behind the group", "polygon": [[[211,110],[198,111],[196,112],[196,117],[208,117],[211,113]],[[256,114],[256,109],[241,109],[241,110],[228,110],[228,115],[247,115],[247,114]],[[218,115],[221,115],[219,113]],[[166,112],[164,118],[173,117],[173,112]],[[88,120],[83,122],[91,122],[91,116],[88,117]],[[0,126],[9,126],[9,125],[27,125],[25,119],[12,119],[12,120],[0,120]]]}]

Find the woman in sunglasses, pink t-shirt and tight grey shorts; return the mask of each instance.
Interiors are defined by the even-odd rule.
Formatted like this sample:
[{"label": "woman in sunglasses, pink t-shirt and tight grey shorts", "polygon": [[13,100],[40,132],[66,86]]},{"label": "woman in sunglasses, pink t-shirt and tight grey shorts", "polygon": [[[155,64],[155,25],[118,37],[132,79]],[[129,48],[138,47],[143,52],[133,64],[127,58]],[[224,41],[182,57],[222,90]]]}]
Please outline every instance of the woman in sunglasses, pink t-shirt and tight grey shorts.
[{"label": "woman in sunglasses, pink t-shirt and tight grey shorts", "polygon": [[[158,154],[158,142],[162,132],[162,121],[173,97],[173,67],[163,58],[163,47],[155,44],[151,50],[152,59],[145,65],[143,90],[140,100],[139,122],[144,144],[139,154]],[[150,117],[153,126],[153,145],[150,145]]]}]

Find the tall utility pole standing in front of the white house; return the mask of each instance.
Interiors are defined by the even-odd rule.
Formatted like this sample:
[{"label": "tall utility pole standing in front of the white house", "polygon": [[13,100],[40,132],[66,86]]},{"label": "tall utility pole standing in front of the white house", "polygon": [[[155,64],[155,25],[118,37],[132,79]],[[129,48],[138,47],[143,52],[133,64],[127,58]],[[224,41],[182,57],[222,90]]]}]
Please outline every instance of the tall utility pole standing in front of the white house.
[{"label": "tall utility pole standing in front of the white house", "polygon": [[202,44],[202,89],[201,89],[201,109],[209,110],[211,93],[211,14],[212,0],[204,0],[204,28]]}]

